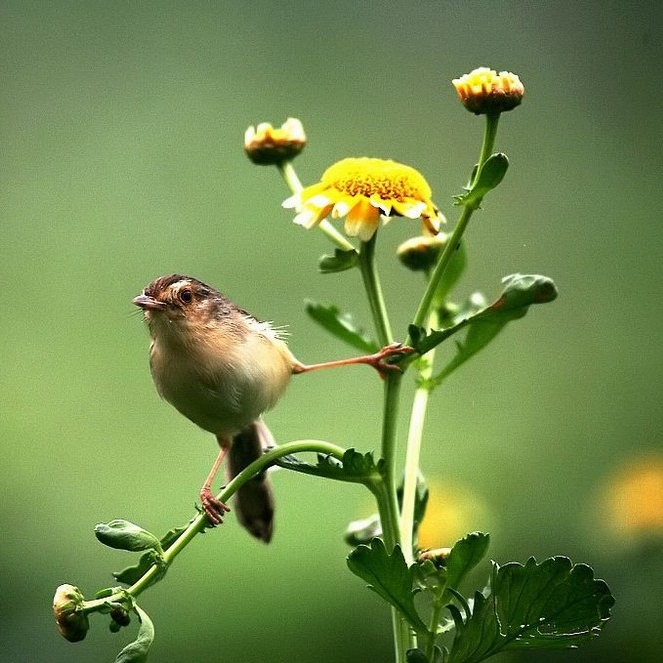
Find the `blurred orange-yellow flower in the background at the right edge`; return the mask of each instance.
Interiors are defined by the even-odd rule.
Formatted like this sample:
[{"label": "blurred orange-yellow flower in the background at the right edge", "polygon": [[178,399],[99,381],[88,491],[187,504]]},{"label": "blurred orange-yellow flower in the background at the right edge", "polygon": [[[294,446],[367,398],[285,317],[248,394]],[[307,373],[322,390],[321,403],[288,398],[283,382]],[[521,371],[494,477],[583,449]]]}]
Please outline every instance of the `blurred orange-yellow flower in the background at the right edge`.
[{"label": "blurred orange-yellow flower in the background at the right edge", "polygon": [[608,484],[610,525],[625,534],[663,532],[663,458],[641,458]]}]

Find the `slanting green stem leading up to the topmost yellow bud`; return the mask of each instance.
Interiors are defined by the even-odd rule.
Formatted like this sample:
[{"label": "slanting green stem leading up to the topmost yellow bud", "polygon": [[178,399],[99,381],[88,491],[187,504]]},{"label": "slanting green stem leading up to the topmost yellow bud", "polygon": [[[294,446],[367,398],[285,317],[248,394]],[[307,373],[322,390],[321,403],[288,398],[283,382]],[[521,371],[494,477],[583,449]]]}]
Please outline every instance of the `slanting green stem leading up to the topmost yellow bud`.
[{"label": "slanting green stem leading up to the topmost yellow bud", "polygon": [[[476,182],[484,162],[493,152],[499,119],[499,113],[495,115],[486,115],[486,125],[484,127],[481,152],[479,154],[479,161],[475,169],[474,177],[472,177],[468,187],[470,189],[472,188],[474,182]],[[463,211],[460,215],[460,218],[458,219],[458,223],[451,233],[451,237],[444,247],[444,251],[442,251],[437,264],[435,265],[435,269],[433,270],[431,278],[428,282],[428,287],[426,288],[424,295],[419,302],[419,307],[417,308],[417,312],[414,314],[414,319],[412,320],[413,325],[417,327],[423,327],[424,321],[428,317],[431,306],[433,305],[433,299],[435,297],[435,292],[437,291],[437,286],[442,280],[444,272],[449,265],[449,262],[451,262],[454,251],[456,251],[458,248],[460,240],[465,233],[465,230],[467,229],[470,218],[472,217],[474,210],[479,207],[480,202],[481,201],[477,201],[472,207],[467,205],[463,207]],[[412,343],[412,339],[408,335],[405,344],[409,345],[410,343]]]}]

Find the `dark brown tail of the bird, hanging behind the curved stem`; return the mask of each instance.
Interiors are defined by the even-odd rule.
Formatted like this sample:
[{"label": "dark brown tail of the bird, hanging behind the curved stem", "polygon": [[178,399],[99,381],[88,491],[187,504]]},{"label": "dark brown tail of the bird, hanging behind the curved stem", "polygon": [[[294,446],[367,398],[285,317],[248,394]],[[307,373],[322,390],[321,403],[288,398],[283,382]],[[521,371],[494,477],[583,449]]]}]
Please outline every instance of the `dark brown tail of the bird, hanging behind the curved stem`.
[{"label": "dark brown tail of the bird, hanging behind the curved stem", "polygon": [[[228,451],[226,468],[229,479],[260,458],[265,449],[274,446],[274,437],[262,419],[236,433]],[[235,510],[243,527],[256,538],[269,543],[274,530],[274,495],[265,472],[247,481],[235,493]]]}]

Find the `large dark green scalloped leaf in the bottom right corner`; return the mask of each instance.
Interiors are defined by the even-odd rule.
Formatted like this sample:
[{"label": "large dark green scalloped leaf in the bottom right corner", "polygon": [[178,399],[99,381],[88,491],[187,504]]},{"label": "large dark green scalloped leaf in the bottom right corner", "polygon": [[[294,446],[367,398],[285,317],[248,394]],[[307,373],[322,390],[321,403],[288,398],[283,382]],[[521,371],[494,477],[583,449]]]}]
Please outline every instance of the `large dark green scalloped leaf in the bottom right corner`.
[{"label": "large dark green scalloped leaf in the bottom right corner", "polygon": [[599,634],[614,598],[586,564],[567,557],[493,564],[488,594],[472,615],[448,606],[456,624],[449,663],[478,663],[508,649],[577,647]]}]

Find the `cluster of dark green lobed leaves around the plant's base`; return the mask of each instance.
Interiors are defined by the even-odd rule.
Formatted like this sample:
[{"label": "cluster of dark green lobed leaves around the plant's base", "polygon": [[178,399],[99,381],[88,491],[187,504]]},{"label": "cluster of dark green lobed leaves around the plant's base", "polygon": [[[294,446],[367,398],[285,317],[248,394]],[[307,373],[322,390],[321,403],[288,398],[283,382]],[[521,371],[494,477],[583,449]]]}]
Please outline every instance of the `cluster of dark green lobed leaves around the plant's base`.
[{"label": "cluster of dark green lobed leaves around the plant's base", "polygon": [[[511,649],[577,647],[598,635],[614,598],[591,567],[567,557],[492,562],[485,589],[466,599],[459,587],[488,544],[487,534],[473,532],[450,550],[430,551],[408,567],[398,546],[389,552],[374,539],[350,553],[348,567],[425,643],[408,653],[411,663],[479,663]],[[430,599],[427,617],[417,594]],[[452,632],[450,644],[438,642]]]}]

